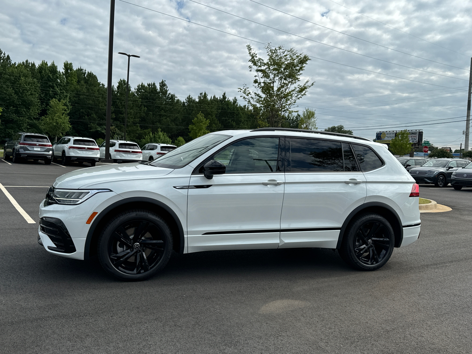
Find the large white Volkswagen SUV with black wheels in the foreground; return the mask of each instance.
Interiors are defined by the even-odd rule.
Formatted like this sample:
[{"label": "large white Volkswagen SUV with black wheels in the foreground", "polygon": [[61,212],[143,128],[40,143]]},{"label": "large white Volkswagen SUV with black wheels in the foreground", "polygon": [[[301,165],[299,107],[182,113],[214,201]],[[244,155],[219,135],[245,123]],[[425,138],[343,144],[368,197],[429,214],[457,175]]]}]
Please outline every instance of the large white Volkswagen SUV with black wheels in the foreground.
[{"label": "large white Volkswagen SUV with black wheels in the foreground", "polygon": [[376,270],[420,235],[418,185],[379,143],[261,128],[210,133],[152,162],[58,177],[40,205],[38,242],[98,254],[123,280],[149,278],[172,250],[321,247]]}]

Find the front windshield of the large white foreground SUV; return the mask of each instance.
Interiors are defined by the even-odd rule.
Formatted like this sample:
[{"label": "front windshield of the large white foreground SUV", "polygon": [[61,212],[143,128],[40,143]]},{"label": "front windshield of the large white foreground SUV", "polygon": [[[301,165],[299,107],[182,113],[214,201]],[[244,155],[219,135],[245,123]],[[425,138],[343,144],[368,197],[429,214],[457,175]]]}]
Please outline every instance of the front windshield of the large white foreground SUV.
[{"label": "front windshield of the large white foreground SUV", "polygon": [[181,169],[188,163],[195,160],[203,153],[209,151],[221,142],[229,139],[230,135],[207,134],[196,138],[178,148],[162,155],[159,159],[153,160],[149,165],[163,167],[165,169]]}]

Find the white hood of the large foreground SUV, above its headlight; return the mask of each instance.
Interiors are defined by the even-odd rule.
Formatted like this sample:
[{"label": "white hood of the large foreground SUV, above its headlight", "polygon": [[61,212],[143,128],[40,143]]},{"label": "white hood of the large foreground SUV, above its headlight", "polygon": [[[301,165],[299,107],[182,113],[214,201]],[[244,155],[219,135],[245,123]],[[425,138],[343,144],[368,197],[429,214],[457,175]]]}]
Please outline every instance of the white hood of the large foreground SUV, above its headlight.
[{"label": "white hood of the large foreground SUV, above its headlight", "polygon": [[87,188],[97,183],[165,176],[171,171],[172,169],[163,169],[137,162],[89,167],[77,169],[56,178],[53,186],[66,189]]}]

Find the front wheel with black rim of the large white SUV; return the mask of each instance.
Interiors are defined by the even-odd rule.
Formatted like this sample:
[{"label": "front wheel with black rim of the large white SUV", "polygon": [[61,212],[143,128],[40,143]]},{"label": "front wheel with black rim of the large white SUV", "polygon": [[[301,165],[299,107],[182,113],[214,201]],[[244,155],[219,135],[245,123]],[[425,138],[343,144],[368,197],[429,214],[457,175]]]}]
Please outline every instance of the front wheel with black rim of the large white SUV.
[{"label": "front wheel with black rim of the large white SUV", "polygon": [[[139,235],[135,237],[136,232]],[[98,239],[101,266],[123,281],[151,278],[166,266],[171,252],[169,225],[149,210],[119,213],[104,226]]]}]

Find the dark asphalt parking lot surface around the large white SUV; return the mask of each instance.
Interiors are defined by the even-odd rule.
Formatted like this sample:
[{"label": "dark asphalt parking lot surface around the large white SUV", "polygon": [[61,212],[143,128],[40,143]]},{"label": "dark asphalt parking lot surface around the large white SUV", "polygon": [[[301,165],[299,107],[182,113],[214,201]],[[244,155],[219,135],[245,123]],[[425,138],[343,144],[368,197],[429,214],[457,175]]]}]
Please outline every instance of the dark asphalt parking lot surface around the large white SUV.
[{"label": "dark asphalt parking lot surface around the large white SUV", "polygon": [[[10,161],[11,163],[11,161]],[[38,205],[63,173],[0,161],[1,353],[471,353],[472,188],[420,196],[421,237],[374,272],[331,250],[174,254],[156,277],[124,283],[96,259],[37,243]]]}]

